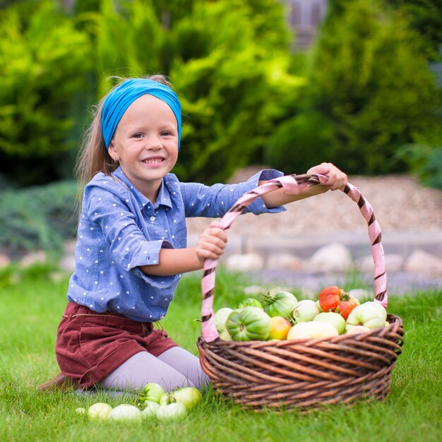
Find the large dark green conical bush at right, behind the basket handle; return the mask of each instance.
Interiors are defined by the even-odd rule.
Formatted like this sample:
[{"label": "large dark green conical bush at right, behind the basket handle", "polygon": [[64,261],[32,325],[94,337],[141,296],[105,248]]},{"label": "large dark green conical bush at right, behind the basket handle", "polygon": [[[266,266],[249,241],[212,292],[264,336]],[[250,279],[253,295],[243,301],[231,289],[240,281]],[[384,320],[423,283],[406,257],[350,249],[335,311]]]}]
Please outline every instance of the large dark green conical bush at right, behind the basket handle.
[{"label": "large dark green conical bush at right, behind the basket handle", "polygon": [[275,132],[268,161],[295,170],[332,161],[348,173],[403,172],[395,150],[441,124],[441,90],[400,12],[380,1],[340,3],[313,48],[301,114]]}]

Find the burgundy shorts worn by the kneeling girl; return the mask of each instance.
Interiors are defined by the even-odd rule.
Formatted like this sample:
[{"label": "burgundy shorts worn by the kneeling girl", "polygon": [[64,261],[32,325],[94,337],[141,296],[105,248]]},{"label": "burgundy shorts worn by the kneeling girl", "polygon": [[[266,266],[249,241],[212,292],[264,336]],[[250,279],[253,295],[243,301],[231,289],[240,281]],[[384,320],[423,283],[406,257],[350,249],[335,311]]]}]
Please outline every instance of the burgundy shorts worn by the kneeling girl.
[{"label": "burgundy shorts worn by the kneeling girl", "polygon": [[61,372],[89,388],[138,352],[159,356],[172,347],[177,344],[152,323],[69,302],[57,330],[55,354]]}]

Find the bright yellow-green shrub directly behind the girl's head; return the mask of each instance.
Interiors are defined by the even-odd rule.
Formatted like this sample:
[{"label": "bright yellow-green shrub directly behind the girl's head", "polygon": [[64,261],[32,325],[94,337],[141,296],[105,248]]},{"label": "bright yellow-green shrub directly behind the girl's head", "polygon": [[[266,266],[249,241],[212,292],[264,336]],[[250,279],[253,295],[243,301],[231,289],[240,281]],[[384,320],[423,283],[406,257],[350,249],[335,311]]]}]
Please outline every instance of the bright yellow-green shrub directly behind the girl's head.
[{"label": "bright yellow-green shrub directly behind the girl's head", "polygon": [[[181,11],[181,13],[179,13]],[[299,87],[289,31],[274,0],[148,1],[97,16],[100,95],[110,75],[165,73],[182,102],[183,180],[227,179],[256,158]]]}]

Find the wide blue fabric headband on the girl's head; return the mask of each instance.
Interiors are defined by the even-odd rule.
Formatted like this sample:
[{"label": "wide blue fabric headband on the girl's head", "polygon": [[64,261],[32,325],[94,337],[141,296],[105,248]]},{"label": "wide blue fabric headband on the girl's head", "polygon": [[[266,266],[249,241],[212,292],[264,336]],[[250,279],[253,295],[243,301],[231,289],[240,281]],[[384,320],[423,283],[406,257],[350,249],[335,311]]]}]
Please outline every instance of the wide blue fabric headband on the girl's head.
[{"label": "wide blue fabric headband on the girl's head", "polygon": [[153,95],[167,103],[175,114],[178,125],[178,148],[181,140],[181,104],[177,94],[166,85],[145,78],[126,80],[109,92],[101,112],[101,130],[106,148],[112,141],[117,125],[126,109],[142,95]]}]

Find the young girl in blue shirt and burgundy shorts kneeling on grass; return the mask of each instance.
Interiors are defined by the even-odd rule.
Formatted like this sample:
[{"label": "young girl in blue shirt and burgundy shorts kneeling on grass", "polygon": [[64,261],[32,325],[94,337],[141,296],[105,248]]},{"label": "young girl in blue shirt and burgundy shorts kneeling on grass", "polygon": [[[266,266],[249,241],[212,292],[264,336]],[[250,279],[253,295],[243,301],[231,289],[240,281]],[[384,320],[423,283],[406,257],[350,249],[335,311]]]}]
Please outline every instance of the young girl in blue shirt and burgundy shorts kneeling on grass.
[{"label": "young girl in blue shirt and burgundy shorts kneeling on grass", "polygon": [[[212,222],[196,247],[186,248],[185,218],[222,217],[246,191],[282,173],[264,170],[235,185],[180,183],[170,172],[179,151],[181,105],[169,86],[162,76],[124,80],[97,108],[77,171],[88,184],[76,270],[56,339],[62,373],[42,390],[66,381],[114,390],[149,382],[165,390],[200,388],[207,382],[198,358],[154,327],[181,275],[219,258],[227,243]],[[285,203],[347,183],[330,163],[309,173],[325,174],[328,181],[298,196],[273,191],[248,211],[280,212]]]}]

